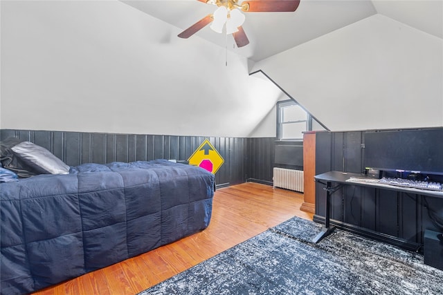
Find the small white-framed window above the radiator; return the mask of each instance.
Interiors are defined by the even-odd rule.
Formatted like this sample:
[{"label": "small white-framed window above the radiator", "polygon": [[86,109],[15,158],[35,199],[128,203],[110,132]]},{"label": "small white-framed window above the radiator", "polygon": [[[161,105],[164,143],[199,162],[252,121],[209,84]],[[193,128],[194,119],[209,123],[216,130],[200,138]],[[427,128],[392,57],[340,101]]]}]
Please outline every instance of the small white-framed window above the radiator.
[{"label": "small white-framed window above the radiator", "polygon": [[278,140],[303,140],[304,131],[311,130],[311,116],[293,100],[277,103]]}]

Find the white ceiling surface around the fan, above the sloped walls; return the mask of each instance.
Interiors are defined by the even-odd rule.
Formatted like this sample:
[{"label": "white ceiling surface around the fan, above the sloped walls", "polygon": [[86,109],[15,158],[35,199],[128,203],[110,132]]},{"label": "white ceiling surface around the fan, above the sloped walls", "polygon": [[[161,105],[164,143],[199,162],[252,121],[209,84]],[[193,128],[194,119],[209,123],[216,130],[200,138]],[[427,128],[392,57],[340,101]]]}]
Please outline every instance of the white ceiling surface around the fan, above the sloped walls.
[{"label": "white ceiling surface around the fan, above the sloped walls", "polygon": [[[123,2],[181,30],[216,9],[197,0]],[[248,46],[236,48],[232,36],[226,38],[209,26],[190,39],[203,38],[252,61],[260,61],[376,14],[443,38],[441,0],[301,0],[295,12],[245,13],[243,28],[250,41]]]}]

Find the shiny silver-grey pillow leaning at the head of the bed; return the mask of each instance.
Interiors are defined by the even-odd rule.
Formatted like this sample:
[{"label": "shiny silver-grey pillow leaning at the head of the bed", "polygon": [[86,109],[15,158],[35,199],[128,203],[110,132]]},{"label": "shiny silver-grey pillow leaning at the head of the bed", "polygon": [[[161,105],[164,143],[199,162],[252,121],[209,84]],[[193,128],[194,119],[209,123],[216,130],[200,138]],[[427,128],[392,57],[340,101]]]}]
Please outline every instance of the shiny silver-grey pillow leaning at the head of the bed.
[{"label": "shiny silver-grey pillow leaning at the head of the bed", "polygon": [[42,146],[37,146],[37,144],[32,142],[20,142],[11,149],[17,157],[29,166],[32,166],[39,173],[69,173],[69,166]]}]

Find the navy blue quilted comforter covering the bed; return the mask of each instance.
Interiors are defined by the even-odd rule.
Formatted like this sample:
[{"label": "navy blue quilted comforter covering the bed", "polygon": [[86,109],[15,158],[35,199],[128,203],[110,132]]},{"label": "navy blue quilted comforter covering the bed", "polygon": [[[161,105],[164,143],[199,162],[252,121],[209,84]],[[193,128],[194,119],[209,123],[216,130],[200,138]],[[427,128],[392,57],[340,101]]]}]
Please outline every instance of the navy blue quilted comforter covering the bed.
[{"label": "navy blue quilted comforter covering the bed", "polygon": [[208,227],[214,175],[167,160],[0,184],[1,294],[35,291]]}]

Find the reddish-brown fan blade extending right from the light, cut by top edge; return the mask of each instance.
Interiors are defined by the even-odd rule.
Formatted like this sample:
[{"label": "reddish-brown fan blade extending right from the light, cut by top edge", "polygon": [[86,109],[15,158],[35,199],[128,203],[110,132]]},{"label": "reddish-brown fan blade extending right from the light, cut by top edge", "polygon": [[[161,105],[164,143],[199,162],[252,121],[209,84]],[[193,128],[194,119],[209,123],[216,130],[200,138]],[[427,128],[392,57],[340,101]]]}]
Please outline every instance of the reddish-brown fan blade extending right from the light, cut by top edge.
[{"label": "reddish-brown fan blade extending right from the light, cut by top edge", "polygon": [[300,0],[248,0],[242,2],[244,12],[293,12]]}]

